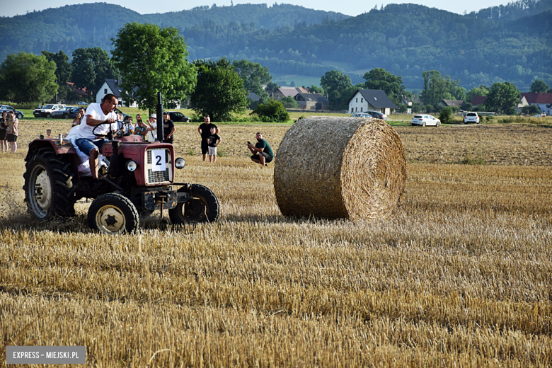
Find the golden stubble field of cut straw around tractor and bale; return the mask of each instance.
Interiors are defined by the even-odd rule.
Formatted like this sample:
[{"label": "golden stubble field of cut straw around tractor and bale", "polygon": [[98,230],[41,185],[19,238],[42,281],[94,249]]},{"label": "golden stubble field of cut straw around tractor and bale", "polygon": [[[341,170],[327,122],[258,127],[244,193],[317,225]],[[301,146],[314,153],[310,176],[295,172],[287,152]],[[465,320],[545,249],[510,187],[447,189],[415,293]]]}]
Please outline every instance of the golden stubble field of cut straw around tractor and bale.
[{"label": "golden stubble field of cut straw around tractor and bale", "polygon": [[552,365],[547,125],[396,127],[403,202],[356,223],[282,217],[274,166],[251,163],[245,144],[261,131],[277,151],[289,124],[222,125],[215,164],[201,161],[196,125],[177,125],[188,163],[177,180],[212,188],[222,219],[151,217],[112,237],[88,229],[86,202],[74,219],[25,215],[26,146],[68,126],[23,122],[20,151],[0,155],[0,354],[84,345],[98,367]]}]

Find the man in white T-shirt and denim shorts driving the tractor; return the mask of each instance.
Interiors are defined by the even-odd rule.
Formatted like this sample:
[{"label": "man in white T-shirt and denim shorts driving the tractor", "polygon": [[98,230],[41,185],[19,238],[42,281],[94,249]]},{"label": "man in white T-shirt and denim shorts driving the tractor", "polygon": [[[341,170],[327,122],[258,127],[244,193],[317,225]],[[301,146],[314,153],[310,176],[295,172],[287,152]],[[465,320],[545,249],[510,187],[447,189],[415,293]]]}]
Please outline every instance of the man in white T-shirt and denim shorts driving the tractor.
[{"label": "man in white T-shirt and denim shorts driving the tractor", "polygon": [[[109,93],[105,95],[102,103],[91,103],[88,105],[86,115],[84,115],[79,129],[76,131],[76,145],[84,154],[90,156],[90,171],[93,179],[98,178],[98,155],[100,154],[100,149],[103,144],[110,142],[108,139],[105,139],[105,134],[108,134],[111,125],[102,124],[104,122],[114,123],[117,121],[117,114],[114,112],[117,103],[117,97]],[[100,126],[97,127],[98,125]]]}]

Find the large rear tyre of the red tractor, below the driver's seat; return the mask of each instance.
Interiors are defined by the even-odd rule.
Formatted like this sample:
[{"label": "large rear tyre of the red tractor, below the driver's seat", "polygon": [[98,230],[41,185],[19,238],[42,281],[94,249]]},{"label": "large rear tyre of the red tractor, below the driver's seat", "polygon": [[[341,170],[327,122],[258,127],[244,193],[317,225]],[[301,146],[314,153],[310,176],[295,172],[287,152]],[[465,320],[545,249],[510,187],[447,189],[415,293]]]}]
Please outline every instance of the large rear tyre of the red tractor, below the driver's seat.
[{"label": "large rear tyre of the red tractor, below the driver's seat", "polygon": [[51,147],[38,149],[25,164],[25,203],[39,219],[74,216],[77,200],[73,171],[67,157]]}]

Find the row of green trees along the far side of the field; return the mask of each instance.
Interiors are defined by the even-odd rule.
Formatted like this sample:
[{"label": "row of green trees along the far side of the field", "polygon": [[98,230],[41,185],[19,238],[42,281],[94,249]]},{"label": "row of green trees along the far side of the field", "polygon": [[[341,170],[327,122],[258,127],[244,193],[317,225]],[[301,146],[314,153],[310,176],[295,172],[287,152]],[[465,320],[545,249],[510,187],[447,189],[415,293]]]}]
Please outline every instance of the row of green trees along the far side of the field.
[{"label": "row of green trees along the far side of the field", "polygon": [[[230,62],[223,57],[217,61],[188,62],[184,39],[173,27],[127,23],[111,40],[113,58],[99,47],[75,50],[71,62],[63,51],[45,51],[40,56],[25,52],[9,55],[0,69],[0,98],[16,103],[48,100],[56,91],[67,88],[69,80],[92,94],[106,78],[122,76],[122,98],[137,102],[142,109],[153,109],[156,93],[161,91],[169,108],[174,101],[189,99],[190,107],[198,114],[225,120],[232,111],[245,110],[249,104],[245,92],[256,93],[260,103],[266,104],[270,98],[262,85],[272,90],[278,87],[272,83],[268,67],[246,59]],[[471,110],[468,104],[473,96],[488,96],[488,110],[513,113],[519,100],[519,91],[508,82],[466,91],[459,86],[459,80],[443,77],[437,70],[423,71],[422,77],[422,104],[413,106],[415,113],[436,111],[443,99],[464,100],[464,107]],[[381,89],[401,110],[406,110],[403,96],[414,97],[406,91],[401,76],[382,68],[368,71],[364,83],[356,85],[343,71],[328,71],[321,77],[321,87],[311,86],[311,92],[324,93],[330,110],[345,110],[357,88]],[[548,91],[549,87],[536,80],[531,85],[533,89]],[[62,94],[58,97],[64,98]],[[287,107],[297,107],[292,98],[283,102]]]}]

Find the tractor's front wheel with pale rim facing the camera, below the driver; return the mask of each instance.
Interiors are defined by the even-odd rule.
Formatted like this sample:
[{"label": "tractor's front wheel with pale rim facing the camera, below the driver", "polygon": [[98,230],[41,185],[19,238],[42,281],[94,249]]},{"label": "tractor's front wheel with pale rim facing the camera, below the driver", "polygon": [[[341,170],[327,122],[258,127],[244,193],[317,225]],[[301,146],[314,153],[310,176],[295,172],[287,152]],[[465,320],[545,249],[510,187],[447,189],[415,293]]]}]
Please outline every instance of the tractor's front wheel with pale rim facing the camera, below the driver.
[{"label": "tractor's front wheel with pale rim facing the camera, below the driver", "polygon": [[88,209],[91,229],[115,235],[137,232],[140,225],[138,210],[124,195],[107,193],[93,200]]}]

